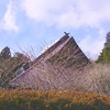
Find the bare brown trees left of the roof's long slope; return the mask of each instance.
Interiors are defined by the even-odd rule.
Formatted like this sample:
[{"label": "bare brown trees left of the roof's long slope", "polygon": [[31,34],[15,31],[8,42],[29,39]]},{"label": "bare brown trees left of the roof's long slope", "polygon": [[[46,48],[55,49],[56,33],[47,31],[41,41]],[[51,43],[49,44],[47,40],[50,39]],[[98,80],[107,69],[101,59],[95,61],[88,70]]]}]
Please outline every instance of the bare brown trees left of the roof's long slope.
[{"label": "bare brown trees left of the roof's long slope", "polygon": [[10,48],[4,47],[0,53],[0,87],[8,87],[8,82],[15,77],[16,69],[28,61],[21,53],[15,53],[12,57]]}]

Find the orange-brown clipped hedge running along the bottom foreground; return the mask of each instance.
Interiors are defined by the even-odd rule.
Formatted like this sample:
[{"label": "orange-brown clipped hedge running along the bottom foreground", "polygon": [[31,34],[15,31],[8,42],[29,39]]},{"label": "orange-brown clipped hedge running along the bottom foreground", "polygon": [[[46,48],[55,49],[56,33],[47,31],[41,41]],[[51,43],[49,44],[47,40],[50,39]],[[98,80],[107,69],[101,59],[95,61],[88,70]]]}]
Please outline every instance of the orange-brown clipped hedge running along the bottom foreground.
[{"label": "orange-brown clipped hedge running along the bottom foreground", "polygon": [[1,90],[0,110],[110,110],[110,97],[75,91]]}]

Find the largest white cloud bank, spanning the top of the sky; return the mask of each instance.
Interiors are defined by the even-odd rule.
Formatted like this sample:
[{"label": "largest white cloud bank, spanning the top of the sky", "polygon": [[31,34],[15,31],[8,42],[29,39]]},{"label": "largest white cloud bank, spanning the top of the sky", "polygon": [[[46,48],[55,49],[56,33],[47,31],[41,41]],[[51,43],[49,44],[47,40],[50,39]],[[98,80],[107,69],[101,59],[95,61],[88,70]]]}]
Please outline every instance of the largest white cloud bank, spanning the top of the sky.
[{"label": "largest white cloud bank, spanning the top of the sky", "polygon": [[100,28],[110,21],[108,0],[22,0],[25,14],[36,22],[57,28]]}]

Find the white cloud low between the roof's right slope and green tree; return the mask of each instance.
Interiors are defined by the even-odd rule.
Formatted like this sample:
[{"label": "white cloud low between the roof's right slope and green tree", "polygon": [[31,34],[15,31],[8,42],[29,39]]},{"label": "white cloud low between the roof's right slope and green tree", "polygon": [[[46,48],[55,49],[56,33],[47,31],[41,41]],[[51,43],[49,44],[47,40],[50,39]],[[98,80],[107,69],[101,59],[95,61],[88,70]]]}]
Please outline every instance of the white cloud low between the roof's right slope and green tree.
[{"label": "white cloud low between the roof's right slope and green tree", "polygon": [[100,29],[99,37],[92,38],[90,35],[87,35],[80,41],[79,46],[89,58],[97,59],[103,48],[106,42],[105,36],[106,31]]}]

